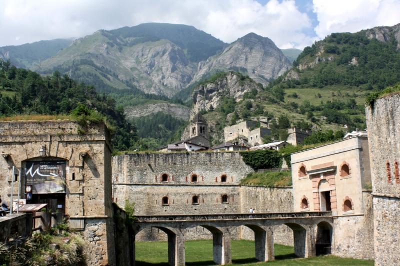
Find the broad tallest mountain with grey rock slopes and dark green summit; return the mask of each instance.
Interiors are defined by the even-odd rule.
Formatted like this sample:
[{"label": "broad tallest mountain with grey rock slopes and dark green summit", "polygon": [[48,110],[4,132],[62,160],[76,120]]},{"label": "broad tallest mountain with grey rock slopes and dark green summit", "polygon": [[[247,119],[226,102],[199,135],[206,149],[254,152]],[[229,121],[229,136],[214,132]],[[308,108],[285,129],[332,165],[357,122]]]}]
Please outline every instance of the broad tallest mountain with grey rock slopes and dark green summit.
[{"label": "broad tallest mountain with grey rock slopes and dark green summit", "polygon": [[77,39],[42,62],[42,69],[68,72],[99,90],[138,88],[170,97],[190,82],[199,60],[224,46],[192,26],[145,23]]}]

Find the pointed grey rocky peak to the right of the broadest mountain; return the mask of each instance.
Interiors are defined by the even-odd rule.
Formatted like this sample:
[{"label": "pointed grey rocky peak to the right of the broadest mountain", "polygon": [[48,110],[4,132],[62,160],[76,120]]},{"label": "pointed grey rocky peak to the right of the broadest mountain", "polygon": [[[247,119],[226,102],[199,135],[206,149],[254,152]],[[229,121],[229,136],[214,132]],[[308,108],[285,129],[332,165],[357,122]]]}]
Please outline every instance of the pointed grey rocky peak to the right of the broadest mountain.
[{"label": "pointed grey rocky peak to the right of the broadest mountain", "polygon": [[200,62],[192,82],[200,80],[207,73],[235,70],[242,72],[254,81],[267,84],[291,67],[272,40],[248,33],[227,46],[220,54]]}]

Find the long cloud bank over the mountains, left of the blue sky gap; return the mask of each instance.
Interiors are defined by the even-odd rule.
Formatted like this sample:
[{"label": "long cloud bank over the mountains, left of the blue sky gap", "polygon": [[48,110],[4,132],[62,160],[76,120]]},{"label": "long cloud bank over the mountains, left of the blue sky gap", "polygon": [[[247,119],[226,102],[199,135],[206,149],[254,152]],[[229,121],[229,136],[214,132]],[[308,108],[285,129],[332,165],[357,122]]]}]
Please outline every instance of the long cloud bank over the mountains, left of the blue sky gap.
[{"label": "long cloud bank over the mountains, left of the blue sky gap", "polygon": [[0,0],[0,46],[144,22],[193,25],[225,42],[255,32],[281,48],[313,40],[302,33],[311,22],[294,0]]}]

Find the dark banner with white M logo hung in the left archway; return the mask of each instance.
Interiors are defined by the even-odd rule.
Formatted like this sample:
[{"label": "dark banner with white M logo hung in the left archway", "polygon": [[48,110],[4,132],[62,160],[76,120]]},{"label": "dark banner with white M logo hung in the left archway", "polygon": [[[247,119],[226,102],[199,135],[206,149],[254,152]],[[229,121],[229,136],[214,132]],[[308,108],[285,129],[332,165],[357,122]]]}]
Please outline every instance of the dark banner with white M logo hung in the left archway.
[{"label": "dark banner with white M logo hung in the left archway", "polygon": [[65,161],[26,162],[26,185],[32,193],[65,193]]}]

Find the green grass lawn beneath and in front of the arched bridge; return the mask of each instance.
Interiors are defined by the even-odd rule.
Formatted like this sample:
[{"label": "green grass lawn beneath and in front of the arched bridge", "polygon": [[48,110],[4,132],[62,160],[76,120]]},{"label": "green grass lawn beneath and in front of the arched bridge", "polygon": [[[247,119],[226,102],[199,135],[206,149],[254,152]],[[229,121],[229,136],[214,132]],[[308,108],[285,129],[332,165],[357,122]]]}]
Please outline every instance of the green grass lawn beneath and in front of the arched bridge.
[{"label": "green grass lawn beneath and in front of the arched bridge", "polygon": [[[136,242],[136,262],[141,266],[168,265],[168,251],[166,242]],[[254,242],[236,240],[231,243],[232,264],[234,265],[320,265],[320,266],[357,266],[370,265],[373,261],[342,259],[334,256],[320,256],[311,259],[296,258],[293,247],[275,245],[275,261],[259,263],[254,259]],[[186,265],[214,265],[212,262],[212,241],[195,240],[185,242]]]}]

